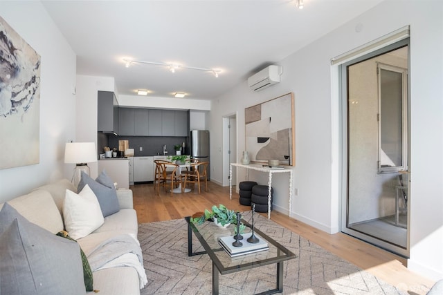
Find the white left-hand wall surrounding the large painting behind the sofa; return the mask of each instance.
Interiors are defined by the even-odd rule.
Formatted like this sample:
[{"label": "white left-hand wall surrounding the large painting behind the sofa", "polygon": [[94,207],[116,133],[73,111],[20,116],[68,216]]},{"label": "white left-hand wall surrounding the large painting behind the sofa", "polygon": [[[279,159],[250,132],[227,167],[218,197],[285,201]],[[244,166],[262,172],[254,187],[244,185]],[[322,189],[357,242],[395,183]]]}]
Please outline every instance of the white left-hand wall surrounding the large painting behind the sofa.
[{"label": "white left-hand wall surrounding the large painting behind the sofa", "polygon": [[1,203],[72,173],[64,164],[64,145],[75,140],[76,69],[71,46],[39,1],[2,1],[0,17],[37,51],[42,61],[40,161],[0,170]]}]

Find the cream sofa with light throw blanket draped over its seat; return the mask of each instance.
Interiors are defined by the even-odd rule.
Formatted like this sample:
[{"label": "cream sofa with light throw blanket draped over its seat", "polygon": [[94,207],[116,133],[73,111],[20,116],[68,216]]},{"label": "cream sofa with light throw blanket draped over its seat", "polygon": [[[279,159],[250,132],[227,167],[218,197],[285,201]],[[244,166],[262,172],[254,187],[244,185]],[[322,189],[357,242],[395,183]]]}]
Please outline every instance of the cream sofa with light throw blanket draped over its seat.
[{"label": "cream sofa with light throw blanket draped over its seat", "polygon": [[[7,203],[10,206],[0,204],[0,209],[2,207],[12,207],[26,220],[55,235],[65,228],[63,206],[66,189],[73,192],[77,191],[69,180],[63,179],[53,184],[38,187],[24,196],[8,201]],[[141,287],[146,283],[146,276],[143,269],[143,258],[141,261],[137,261],[137,258],[140,260],[141,249],[137,240],[138,223],[136,211],[133,208],[132,191],[129,189],[119,189],[116,191],[116,194],[119,206],[118,211],[106,216],[103,224],[98,229],[87,236],[78,238],[77,242],[88,257],[88,260],[98,256],[98,259],[94,258],[93,263],[89,261],[93,271],[93,289],[98,290],[98,294],[140,294]],[[35,233],[35,231],[32,232]],[[132,242],[132,240],[135,242]],[[8,245],[0,245],[1,251],[6,251],[4,249],[7,248]],[[132,251],[126,250],[129,248],[132,248]],[[102,249],[104,251],[100,251]],[[76,254],[75,257],[70,255],[66,255],[66,261],[78,260]],[[51,258],[47,260],[50,261]],[[63,265],[64,262],[60,261],[58,264]],[[3,269],[4,271],[5,269]],[[13,271],[10,269],[10,272]],[[78,270],[75,272],[78,272]],[[66,284],[67,287],[69,287],[69,284]],[[72,293],[66,291],[63,294]],[[95,293],[84,291],[84,294]]]}]

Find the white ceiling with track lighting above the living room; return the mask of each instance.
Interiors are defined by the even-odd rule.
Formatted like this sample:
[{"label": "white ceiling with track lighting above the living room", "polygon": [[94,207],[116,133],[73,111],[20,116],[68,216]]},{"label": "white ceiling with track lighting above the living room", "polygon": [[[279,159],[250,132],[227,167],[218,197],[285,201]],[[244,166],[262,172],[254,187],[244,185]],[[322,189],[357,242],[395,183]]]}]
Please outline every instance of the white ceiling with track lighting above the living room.
[{"label": "white ceiling with track lighting above the living room", "polygon": [[[77,55],[77,73],[114,77],[120,95],[213,99],[382,0],[42,1]],[[219,68],[213,73],[124,58]],[[284,75],[284,74],[283,74]]]}]

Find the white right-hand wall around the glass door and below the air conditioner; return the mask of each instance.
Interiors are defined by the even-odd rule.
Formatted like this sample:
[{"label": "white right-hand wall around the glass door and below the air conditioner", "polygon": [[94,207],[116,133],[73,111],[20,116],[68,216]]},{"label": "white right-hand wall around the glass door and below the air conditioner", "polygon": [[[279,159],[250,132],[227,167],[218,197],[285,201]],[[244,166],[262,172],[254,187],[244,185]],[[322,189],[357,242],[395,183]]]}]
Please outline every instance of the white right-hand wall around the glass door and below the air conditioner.
[{"label": "white right-hand wall around the glass door and below the air conditioner", "polygon": [[[411,190],[410,260],[424,276],[443,278],[443,3],[439,0],[383,1],[293,55],[276,61],[282,82],[253,93],[246,82],[211,105],[211,179],[222,175],[222,118],[238,111],[238,150],[244,150],[244,108],[292,91],[296,113],[293,216],[318,229],[339,229],[338,89],[330,59],[410,25]],[[356,32],[356,26],[363,30]],[[334,92],[332,92],[334,90]],[[334,131],[334,133],[333,133]],[[216,136],[219,134],[219,136]],[[239,171],[239,181],[241,179]],[[257,176],[259,177],[259,176]],[[252,178],[252,175],[251,175]],[[262,178],[262,175],[260,175]],[[260,179],[262,181],[262,179]],[[266,183],[266,182],[264,182]],[[273,181],[284,187],[287,179]],[[276,194],[284,211],[283,193]],[[288,207],[286,207],[287,209]]]}]

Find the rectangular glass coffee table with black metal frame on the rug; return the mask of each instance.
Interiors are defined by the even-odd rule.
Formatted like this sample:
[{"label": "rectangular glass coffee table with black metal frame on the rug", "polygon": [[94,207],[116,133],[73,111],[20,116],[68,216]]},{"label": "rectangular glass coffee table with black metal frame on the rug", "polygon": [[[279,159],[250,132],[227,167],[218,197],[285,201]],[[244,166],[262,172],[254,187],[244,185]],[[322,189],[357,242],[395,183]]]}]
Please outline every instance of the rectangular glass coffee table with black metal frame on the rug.
[{"label": "rectangular glass coffee table with black metal frame on the rug", "polygon": [[[253,254],[246,254],[231,258],[231,256],[219,244],[219,238],[224,236],[233,236],[235,225],[230,225],[227,229],[222,229],[215,225],[214,222],[206,221],[201,225],[197,225],[190,221],[190,217],[186,217],[188,222],[188,256],[208,254],[213,261],[213,294],[219,294],[219,274],[231,274],[246,269],[261,267],[264,265],[277,264],[276,287],[260,294],[275,294],[283,291],[283,263],[285,260],[296,258],[296,255],[276,242],[262,231],[254,228],[257,238],[265,240],[269,249],[259,251]],[[245,234],[251,232],[251,225],[242,220],[246,225]],[[192,251],[192,233],[195,234],[201,246],[205,251]]]}]

